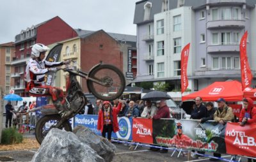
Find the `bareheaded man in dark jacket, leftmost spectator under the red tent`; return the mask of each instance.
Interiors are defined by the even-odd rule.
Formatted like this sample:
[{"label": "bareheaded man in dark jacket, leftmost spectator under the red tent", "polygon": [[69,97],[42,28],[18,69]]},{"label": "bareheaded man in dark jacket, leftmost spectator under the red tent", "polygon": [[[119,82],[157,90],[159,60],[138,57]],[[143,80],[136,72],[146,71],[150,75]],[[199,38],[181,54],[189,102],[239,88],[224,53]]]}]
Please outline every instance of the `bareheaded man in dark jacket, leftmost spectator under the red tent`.
[{"label": "bareheaded man in dark jacket, leftmost spectator under the red tent", "polygon": [[[202,98],[200,97],[196,97],[195,98],[195,102],[196,102],[196,106],[193,107],[194,110],[191,112],[191,119],[202,119],[204,117],[206,117],[207,115],[207,109],[205,107],[205,105],[203,104]],[[192,158],[198,158],[198,154],[194,153],[195,151],[192,150],[191,152],[191,157]],[[199,154],[205,154],[204,151],[197,151]]]}]

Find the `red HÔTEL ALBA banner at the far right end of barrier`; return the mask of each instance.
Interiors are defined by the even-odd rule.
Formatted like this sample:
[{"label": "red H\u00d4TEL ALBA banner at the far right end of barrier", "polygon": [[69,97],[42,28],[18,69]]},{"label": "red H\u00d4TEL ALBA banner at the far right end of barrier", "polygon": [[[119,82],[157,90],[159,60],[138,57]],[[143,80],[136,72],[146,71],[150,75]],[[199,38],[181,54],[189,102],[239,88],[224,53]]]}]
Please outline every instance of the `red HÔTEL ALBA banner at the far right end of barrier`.
[{"label": "red H\u00d4TEL ALBA banner at the far right end of barrier", "polygon": [[256,124],[227,123],[225,143],[227,154],[256,157]]}]

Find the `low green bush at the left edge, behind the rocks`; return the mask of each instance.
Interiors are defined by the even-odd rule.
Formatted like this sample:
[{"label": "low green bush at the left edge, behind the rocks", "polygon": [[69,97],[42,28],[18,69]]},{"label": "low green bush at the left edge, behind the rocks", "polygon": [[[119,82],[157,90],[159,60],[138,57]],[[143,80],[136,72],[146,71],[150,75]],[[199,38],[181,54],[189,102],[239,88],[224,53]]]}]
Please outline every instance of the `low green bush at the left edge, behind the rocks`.
[{"label": "low green bush at the left edge, behind the rocks", "polygon": [[2,131],[1,144],[19,144],[23,136],[15,128],[6,128]]}]

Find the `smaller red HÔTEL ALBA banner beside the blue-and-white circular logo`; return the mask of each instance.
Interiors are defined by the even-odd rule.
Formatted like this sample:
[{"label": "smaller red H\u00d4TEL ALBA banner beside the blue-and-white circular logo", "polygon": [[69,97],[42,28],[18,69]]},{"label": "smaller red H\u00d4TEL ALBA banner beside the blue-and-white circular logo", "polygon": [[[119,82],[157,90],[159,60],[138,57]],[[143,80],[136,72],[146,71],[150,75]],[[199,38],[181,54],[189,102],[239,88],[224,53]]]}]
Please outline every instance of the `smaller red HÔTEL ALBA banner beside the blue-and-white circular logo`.
[{"label": "smaller red H\u00d4TEL ALBA banner beside the blue-and-white circular logo", "polygon": [[134,118],[132,120],[132,140],[153,144],[153,128],[151,119]]}]

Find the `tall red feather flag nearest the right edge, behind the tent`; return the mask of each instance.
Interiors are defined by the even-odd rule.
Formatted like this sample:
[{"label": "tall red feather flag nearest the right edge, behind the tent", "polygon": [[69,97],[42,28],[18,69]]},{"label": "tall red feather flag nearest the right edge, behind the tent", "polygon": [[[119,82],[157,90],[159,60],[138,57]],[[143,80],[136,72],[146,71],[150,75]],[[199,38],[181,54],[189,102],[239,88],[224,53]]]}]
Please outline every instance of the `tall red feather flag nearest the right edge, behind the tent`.
[{"label": "tall red feather flag nearest the right edge, behind the tent", "polygon": [[246,89],[246,87],[250,87],[252,84],[252,72],[250,66],[248,64],[247,51],[246,51],[246,43],[247,43],[247,31],[244,33],[241,41],[240,41],[240,64],[241,64],[241,80],[242,80],[242,91]]}]

